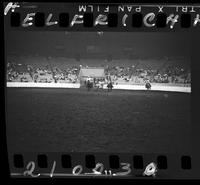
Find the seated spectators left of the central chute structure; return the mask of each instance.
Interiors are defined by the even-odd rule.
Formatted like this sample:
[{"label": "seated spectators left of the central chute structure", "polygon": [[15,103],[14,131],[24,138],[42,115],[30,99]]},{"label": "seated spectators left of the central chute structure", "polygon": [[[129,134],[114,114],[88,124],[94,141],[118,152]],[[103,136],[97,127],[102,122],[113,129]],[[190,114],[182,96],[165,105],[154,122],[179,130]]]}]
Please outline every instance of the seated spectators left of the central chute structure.
[{"label": "seated spectators left of the central chute structure", "polygon": [[64,70],[50,65],[34,68],[26,64],[7,64],[8,82],[35,82],[35,83],[76,83],[78,80],[77,67],[66,68]]}]

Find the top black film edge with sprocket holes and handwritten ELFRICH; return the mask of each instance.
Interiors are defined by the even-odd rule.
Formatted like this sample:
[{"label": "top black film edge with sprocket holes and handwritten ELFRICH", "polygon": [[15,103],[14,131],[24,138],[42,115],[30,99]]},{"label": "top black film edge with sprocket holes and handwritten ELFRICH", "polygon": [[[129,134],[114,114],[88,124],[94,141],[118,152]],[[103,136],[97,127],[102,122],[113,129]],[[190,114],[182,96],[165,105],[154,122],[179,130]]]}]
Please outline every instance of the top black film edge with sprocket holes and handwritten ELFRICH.
[{"label": "top black film edge with sprocket holes and handwritten ELFRICH", "polygon": [[7,28],[23,30],[158,31],[200,27],[200,5],[8,3]]}]

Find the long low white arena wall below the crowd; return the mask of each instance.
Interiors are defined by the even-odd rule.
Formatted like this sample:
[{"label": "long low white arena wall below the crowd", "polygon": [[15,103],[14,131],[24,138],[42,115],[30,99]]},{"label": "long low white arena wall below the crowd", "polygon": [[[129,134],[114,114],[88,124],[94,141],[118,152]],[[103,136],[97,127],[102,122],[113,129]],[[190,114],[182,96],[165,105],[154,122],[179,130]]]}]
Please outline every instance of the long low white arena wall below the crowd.
[{"label": "long low white arena wall below the crowd", "polygon": [[[34,83],[34,82],[7,82],[7,87],[38,87],[38,88],[80,88],[79,83]],[[104,89],[107,86],[104,85]],[[114,85],[113,89],[146,90],[144,85]],[[190,93],[191,87],[152,85],[153,91],[172,91]]]}]

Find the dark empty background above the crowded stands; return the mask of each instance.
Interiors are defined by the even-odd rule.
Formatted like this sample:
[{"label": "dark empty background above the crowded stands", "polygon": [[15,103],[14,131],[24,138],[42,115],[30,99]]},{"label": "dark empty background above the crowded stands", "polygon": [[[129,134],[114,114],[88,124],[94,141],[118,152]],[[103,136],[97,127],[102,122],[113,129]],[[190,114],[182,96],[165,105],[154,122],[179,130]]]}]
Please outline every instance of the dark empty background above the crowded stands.
[{"label": "dark empty background above the crowded stands", "polygon": [[[73,57],[143,58],[190,56],[191,35],[187,32],[64,32],[8,31],[7,55],[43,55]],[[87,47],[93,46],[91,52]],[[130,56],[131,55],[131,56]]]}]

